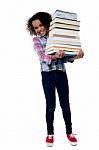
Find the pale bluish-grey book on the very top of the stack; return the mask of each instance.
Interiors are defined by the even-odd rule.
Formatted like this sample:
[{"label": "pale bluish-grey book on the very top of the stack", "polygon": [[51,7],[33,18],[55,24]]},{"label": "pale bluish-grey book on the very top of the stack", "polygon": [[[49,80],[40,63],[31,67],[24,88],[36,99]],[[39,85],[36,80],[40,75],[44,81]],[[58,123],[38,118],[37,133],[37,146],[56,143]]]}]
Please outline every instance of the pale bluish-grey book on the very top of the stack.
[{"label": "pale bluish-grey book on the very top of the stack", "polygon": [[77,14],[73,12],[67,12],[67,11],[62,11],[62,10],[56,10],[52,16],[52,18],[66,18],[66,19],[71,19],[71,20],[77,20]]}]

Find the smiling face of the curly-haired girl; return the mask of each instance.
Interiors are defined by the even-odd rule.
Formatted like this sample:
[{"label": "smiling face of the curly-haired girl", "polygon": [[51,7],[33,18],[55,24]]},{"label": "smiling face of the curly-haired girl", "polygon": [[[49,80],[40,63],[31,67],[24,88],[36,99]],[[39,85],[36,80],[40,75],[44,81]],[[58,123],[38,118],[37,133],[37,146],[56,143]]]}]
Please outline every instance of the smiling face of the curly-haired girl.
[{"label": "smiling face of the curly-haired girl", "polygon": [[47,35],[48,30],[44,25],[40,22],[39,19],[32,21],[32,26],[36,32],[37,35],[45,36]]}]

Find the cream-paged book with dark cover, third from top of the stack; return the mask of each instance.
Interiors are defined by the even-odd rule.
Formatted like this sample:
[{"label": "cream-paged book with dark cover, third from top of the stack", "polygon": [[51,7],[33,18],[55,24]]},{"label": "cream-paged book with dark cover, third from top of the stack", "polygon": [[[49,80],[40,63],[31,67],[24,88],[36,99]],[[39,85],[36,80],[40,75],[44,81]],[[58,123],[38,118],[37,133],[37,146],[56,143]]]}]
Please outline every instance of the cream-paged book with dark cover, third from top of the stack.
[{"label": "cream-paged book with dark cover, third from top of the stack", "polygon": [[80,30],[78,25],[71,25],[71,24],[58,23],[58,22],[55,22],[54,24],[52,24],[49,28],[49,31],[52,30],[53,28],[72,29],[72,30],[77,30],[77,31]]}]

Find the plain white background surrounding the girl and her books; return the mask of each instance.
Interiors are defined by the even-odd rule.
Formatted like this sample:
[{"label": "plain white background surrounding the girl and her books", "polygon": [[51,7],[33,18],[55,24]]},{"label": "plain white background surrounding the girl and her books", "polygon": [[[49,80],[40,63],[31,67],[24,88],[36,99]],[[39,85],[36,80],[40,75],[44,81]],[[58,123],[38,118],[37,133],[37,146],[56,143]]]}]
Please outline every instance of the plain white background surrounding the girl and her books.
[{"label": "plain white background surrounding the girl and her books", "polygon": [[55,145],[59,149],[99,149],[99,5],[98,0],[3,0],[0,2],[0,149],[44,150],[45,97],[40,65],[26,21],[38,11],[76,12],[85,56],[66,64],[70,86],[73,132],[71,147],[57,98]]}]

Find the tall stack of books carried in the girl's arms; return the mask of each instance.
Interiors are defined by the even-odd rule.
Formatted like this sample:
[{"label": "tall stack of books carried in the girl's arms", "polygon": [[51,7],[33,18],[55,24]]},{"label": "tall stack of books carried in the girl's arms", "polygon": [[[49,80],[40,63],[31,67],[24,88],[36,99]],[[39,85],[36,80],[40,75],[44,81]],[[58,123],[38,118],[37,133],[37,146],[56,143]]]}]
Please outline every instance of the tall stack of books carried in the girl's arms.
[{"label": "tall stack of books carried in the girl's arms", "polygon": [[81,49],[79,31],[80,21],[76,13],[56,10],[50,23],[45,53],[55,54],[63,50],[68,58],[77,55]]}]

